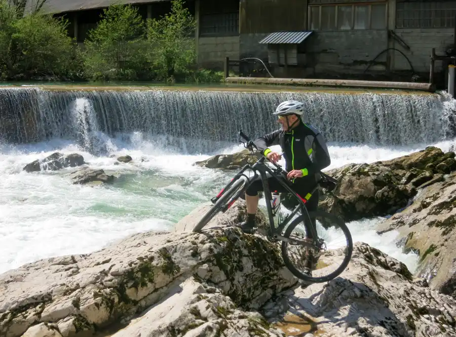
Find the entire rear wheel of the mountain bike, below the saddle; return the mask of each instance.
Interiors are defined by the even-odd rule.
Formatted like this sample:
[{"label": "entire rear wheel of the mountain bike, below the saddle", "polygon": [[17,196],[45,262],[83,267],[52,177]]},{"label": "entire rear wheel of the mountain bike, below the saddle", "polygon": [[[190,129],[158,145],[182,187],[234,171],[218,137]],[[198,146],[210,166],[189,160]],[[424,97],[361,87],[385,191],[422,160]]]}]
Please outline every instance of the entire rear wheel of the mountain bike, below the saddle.
[{"label": "entire rear wheel of the mountain bike, below the saddle", "polygon": [[[282,257],[285,266],[296,277],[312,283],[328,282],[340,275],[350,263],[353,252],[352,236],[344,220],[334,214],[315,211],[309,212],[309,216],[316,221],[320,249],[317,251],[317,247],[311,249],[303,245],[291,245],[282,241]],[[303,218],[301,215],[294,219],[283,236],[301,240],[305,237],[312,237],[308,233]],[[337,248],[335,247],[337,242],[345,243],[346,246]],[[327,245],[331,250],[326,250]],[[334,269],[333,267],[337,262],[339,264]],[[312,276],[305,272],[308,267],[312,270]]]}]

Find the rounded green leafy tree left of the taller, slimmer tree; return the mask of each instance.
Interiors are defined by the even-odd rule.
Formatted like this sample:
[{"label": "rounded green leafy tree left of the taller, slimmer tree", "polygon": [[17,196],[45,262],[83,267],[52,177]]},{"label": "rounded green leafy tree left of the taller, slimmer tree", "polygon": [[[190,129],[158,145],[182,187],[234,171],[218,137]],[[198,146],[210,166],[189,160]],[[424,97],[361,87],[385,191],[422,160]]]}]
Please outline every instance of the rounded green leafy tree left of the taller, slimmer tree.
[{"label": "rounded green leafy tree left of the taller, slimmer tree", "polygon": [[144,69],[144,22],[131,5],[105,9],[85,45],[86,72],[93,80],[133,80]]}]

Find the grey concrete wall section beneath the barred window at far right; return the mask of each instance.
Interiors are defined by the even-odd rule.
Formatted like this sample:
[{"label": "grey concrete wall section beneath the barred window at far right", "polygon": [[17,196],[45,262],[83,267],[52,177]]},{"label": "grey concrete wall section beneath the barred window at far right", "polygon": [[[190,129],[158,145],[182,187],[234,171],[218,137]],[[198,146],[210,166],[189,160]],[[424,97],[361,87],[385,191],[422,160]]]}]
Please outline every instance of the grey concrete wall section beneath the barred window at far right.
[{"label": "grey concrete wall section beneath the barred window at far right", "polygon": [[[445,55],[445,50],[452,47],[454,38],[453,28],[396,28],[394,32],[410,47],[407,51],[394,39],[394,48],[402,51],[410,60],[416,72],[429,72],[431,67],[431,52],[435,48],[437,55]],[[408,70],[410,65],[406,58],[394,51],[394,70]],[[442,61],[435,62],[435,71],[442,69]]]}]

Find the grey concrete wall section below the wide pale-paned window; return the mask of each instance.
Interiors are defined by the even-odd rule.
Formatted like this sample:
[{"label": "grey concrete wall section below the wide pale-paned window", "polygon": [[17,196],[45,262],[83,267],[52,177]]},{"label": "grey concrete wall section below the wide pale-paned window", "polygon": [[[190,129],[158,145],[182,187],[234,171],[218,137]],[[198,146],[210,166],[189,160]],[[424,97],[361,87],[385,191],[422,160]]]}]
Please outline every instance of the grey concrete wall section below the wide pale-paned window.
[{"label": "grey concrete wall section below the wide pale-paned window", "polygon": [[[308,76],[312,74],[361,73],[377,54],[388,48],[387,30],[314,32],[304,42]],[[370,70],[385,70],[386,53]]]}]

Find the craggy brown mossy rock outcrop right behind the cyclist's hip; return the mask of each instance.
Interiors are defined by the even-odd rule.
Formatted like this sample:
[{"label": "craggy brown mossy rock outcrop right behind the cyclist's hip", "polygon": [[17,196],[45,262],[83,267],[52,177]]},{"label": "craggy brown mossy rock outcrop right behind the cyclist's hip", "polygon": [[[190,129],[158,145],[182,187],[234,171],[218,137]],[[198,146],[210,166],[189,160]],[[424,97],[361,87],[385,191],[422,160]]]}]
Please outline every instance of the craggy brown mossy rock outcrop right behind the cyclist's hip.
[{"label": "craggy brown mossy rock outcrop right behind the cyclist's hip", "polygon": [[[453,157],[452,152],[444,154],[440,148],[428,146],[388,161],[330,170],[325,173],[338,179],[339,184],[334,191],[320,195],[319,208],[345,221],[393,214],[406,207],[418,189],[441,181],[441,172],[456,169]],[[284,196],[284,206],[291,209],[295,203]]]}]

